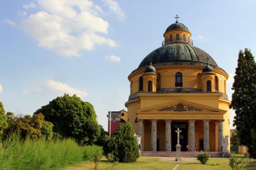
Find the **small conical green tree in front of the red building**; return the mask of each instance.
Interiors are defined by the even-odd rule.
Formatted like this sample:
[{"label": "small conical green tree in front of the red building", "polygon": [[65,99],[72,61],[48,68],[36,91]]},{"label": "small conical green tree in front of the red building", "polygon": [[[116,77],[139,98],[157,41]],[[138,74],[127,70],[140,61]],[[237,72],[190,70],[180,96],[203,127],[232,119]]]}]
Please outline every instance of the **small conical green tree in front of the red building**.
[{"label": "small conical green tree in front of the red building", "polygon": [[109,142],[110,153],[113,153],[118,162],[136,162],[140,157],[140,150],[133,127],[128,122],[117,128],[117,133]]}]

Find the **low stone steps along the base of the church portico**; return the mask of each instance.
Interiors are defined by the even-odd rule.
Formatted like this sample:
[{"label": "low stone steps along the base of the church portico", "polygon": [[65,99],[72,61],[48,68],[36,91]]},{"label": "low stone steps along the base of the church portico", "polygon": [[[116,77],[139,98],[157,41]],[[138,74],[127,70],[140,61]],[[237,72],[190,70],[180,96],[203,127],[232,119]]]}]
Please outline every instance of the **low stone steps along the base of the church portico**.
[{"label": "low stone steps along the base of the church portico", "polygon": [[[200,152],[181,152],[181,156],[183,157],[196,157]],[[206,152],[210,155],[210,157],[222,157],[222,152]],[[165,151],[141,151],[141,156],[176,156],[176,151],[165,152]]]}]

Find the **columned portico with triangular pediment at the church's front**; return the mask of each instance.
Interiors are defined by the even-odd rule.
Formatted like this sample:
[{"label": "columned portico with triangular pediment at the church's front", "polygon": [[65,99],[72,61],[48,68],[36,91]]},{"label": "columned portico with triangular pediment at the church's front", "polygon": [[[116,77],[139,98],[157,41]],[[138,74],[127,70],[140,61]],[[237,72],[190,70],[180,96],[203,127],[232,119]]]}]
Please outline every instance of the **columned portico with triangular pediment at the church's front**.
[{"label": "columned portico with triangular pediment at the church's front", "polygon": [[[140,96],[141,104],[144,95]],[[141,151],[175,151],[179,127],[181,151],[219,151],[225,110],[176,100],[136,110]],[[214,115],[214,116],[213,116]],[[195,144],[197,148],[195,149]],[[188,149],[186,148],[188,146]]]}]

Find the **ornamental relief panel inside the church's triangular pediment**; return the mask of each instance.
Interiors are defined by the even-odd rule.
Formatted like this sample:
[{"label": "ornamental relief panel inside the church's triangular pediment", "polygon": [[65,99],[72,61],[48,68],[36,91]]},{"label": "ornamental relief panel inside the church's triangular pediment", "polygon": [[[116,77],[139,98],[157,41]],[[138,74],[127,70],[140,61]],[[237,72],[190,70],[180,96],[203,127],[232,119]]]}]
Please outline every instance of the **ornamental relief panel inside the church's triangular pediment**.
[{"label": "ornamental relief panel inside the church's triangular pediment", "polygon": [[194,107],[194,106],[189,106],[189,105],[183,105],[183,104],[178,104],[178,105],[173,105],[173,106],[166,106],[160,109],[157,109],[157,111],[204,111],[202,108]]}]

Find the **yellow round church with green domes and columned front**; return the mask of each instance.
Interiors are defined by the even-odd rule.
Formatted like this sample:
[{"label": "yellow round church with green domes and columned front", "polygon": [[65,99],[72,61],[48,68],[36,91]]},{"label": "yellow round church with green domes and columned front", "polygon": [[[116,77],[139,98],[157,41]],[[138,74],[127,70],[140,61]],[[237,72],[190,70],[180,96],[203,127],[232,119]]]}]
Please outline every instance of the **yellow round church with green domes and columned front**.
[{"label": "yellow round church with green domes and columned front", "polygon": [[175,151],[179,127],[182,151],[222,151],[224,136],[230,136],[229,75],[193,46],[186,25],[176,21],[163,37],[162,47],[128,76],[125,106],[140,150]]}]

